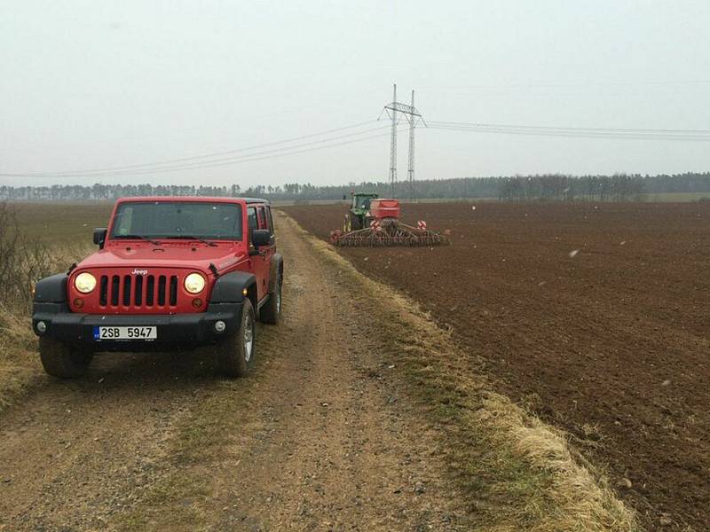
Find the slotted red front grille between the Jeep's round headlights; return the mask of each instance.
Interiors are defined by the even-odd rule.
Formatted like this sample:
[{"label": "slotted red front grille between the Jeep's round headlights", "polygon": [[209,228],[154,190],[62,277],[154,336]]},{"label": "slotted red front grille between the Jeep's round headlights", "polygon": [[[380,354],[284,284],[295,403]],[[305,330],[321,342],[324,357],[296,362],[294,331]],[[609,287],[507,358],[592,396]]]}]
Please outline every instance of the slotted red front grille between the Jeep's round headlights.
[{"label": "slotted red front grille between the Jeep's round headlights", "polygon": [[102,275],[102,307],[175,307],[177,275]]}]

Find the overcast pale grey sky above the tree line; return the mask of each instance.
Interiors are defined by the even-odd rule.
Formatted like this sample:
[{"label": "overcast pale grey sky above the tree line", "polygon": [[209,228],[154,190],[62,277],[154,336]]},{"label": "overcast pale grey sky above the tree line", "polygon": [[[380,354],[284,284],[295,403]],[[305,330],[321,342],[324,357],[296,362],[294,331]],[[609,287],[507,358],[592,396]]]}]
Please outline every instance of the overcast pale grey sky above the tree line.
[{"label": "overcast pale grey sky above the tree line", "polygon": [[[0,10],[5,173],[170,160],[374,121],[392,82],[402,99],[416,90],[432,121],[710,129],[707,0],[4,0]],[[703,142],[439,129],[417,129],[416,141],[422,179],[710,169]],[[386,179],[389,149],[385,136],[216,168],[0,183],[341,184]],[[398,161],[401,179],[404,133]]]}]

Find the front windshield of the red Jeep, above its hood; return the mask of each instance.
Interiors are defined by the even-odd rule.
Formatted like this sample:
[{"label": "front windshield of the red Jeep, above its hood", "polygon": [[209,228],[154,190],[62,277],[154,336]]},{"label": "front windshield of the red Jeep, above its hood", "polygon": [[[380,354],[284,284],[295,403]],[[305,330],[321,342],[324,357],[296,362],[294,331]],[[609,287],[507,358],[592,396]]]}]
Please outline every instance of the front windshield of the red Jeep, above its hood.
[{"label": "front windshield of the red Jeep, above its hood", "polygon": [[241,240],[241,206],[197,201],[122,203],[114,217],[112,239]]}]

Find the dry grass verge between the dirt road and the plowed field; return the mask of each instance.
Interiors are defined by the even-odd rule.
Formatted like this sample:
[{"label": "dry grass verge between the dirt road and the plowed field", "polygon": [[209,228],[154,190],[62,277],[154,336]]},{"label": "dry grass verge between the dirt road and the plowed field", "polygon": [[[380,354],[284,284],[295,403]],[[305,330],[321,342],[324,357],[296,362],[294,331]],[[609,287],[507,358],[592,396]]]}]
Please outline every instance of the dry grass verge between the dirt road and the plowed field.
[{"label": "dry grass verge between the dirt road and the plowed field", "polygon": [[438,447],[477,529],[640,529],[635,513],[615,497],[604,474],[573,450],[566,434],[493,392],[475,354],[456,345],[414,301],[367,278],[332,246],[288,216],[286,221],[343,272],[352,293],[387,301],[368,307],[370,319],[387,332],[377,347],[397,363],[406,388],[440,427]]}]

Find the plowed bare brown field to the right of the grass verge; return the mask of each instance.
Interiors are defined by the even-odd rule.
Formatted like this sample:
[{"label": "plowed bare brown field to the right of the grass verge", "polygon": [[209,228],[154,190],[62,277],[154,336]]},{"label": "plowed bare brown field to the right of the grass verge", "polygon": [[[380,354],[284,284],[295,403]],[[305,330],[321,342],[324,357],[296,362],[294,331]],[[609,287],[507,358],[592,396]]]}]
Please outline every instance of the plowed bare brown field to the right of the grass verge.
[{"label": "plowed bare brown field to the right of the grass verge", "polygon": [[[283,207],[323,239],[346,209]],[[402,218],[452,245],[343,254],[451,325],[502,391],[608,467],[649,529],[710,528],[710,205],[439,203]]]}]

